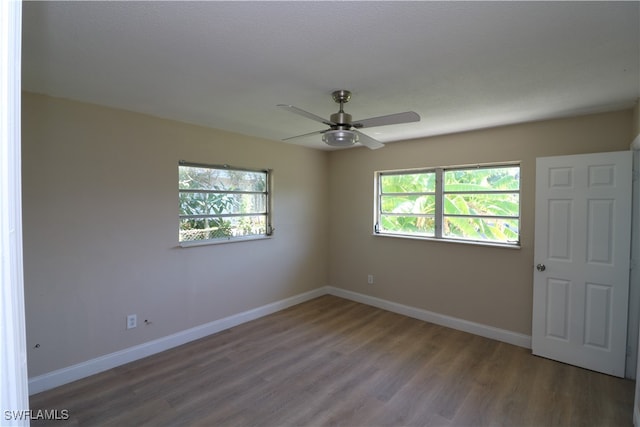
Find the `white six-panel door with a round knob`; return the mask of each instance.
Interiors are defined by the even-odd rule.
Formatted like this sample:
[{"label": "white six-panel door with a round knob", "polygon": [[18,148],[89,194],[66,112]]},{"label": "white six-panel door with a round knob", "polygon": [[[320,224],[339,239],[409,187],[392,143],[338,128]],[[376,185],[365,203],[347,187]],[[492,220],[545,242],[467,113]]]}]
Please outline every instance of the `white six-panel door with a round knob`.
[{"label": "white six-panel door with a round knob", "polygon": [[624,376],[632,152],[536,163],[533,354]]}]

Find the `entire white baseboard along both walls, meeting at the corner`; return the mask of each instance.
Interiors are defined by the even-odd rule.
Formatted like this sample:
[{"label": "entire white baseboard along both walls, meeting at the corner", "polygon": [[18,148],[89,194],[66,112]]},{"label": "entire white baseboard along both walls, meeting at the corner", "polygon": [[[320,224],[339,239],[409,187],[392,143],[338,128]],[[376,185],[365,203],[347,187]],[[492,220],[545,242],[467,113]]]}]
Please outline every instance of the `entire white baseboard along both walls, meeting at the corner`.
[{"label": "entire white baseboard along both walls, meeting at the corner", "polygon": [[166,337],[158,338],[156,340],[149,341],[140,345],[125,348],[124,350],[116,351],[115,353],[106,354],[104,356],[87,360],[76,365],[48,372],[43,375],[38,375],[29,379],[29,394],[40,393],[42,391],[50,390],[52,388],[61,386],[63,384],[68,384],[70,382],[88,377],[90,375],[98,374],[100,372],[115,368],[116,366],[124,365],[126,363],[133,362],[135,360],[142,359],[144,357],[151,356],[165,350],[169,350],[173,347],[177,347],[179,345],[204,338],[208,335],[215,334],[225,329],[229,329],[242,323],[258,319],[260,317],[275,313],[280,310],[284,310],[285,308],[326,294],[335,295],[373,307],[378,307],[383,310],[403,314],[415,319],[435,323],[437,325],[446,326],[464,332],[469,332],[497,341],[514,344],[520,347],[531,348],[531,337],[528,335],[518,334],[516,332],[498,329],[492,326],[486,326],[455,317],[445,316],[443,314],[398,304],[357,292],[347,291],[345,289],[325,286],[322,288],[314,289],[313,291],[305,292],[303,294],[276,301],[271,304],[263,305],[252,310],[234,314],[223,319],[214,320],[213,322],[205,323],[204,325],[196,326],[194,328],[168,335]]}]

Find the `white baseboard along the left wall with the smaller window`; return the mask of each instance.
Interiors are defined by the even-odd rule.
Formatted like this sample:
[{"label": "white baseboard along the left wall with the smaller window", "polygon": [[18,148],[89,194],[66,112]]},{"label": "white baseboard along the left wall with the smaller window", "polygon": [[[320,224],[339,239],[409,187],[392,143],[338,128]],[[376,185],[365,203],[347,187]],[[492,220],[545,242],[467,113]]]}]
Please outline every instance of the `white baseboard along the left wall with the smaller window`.
[{"label": "white baseboard along the left wall with the smaller window", "polygon": [[205,323],[204,325],[180,331],[166,337],[125,348],[124,350],[116,351],[115,353],[106,354],[95,359],[87,360],[86,362],[51,371],[43,375],[38,375],[37,377],[29,379],[29,394],[40,393],[90,375],[98,374],[115,368],[116,366],[124,365],[125,363],[133,362],[134,360],[169,350],[170,348],[177,347],[206,337],[207,335],[215,334],[242,323],[284,310],[285,308],[325,294],[327,294],[326,288],[314,289],[310,292],[295,295],[271,304],[263,305],[262,307],[234,314],[223,319],[214,320],[213,322]]}]

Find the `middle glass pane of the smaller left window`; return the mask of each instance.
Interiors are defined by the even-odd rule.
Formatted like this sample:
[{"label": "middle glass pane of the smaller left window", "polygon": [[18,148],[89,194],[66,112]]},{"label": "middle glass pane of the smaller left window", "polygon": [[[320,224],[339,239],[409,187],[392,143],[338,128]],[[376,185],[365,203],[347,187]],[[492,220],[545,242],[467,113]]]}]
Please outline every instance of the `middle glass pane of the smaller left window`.
[{"label": "middle glass pane of the smaller left window", "polygon": [[264,194],[180,193],[180,215],[265,213]]}]

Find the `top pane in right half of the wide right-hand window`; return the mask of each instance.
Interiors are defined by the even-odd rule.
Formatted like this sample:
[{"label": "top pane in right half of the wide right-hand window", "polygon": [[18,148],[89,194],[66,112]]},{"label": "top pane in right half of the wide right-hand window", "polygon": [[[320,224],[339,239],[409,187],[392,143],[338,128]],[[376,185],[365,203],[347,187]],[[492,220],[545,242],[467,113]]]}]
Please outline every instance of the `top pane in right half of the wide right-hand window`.
[{"label": "top pane in right half of the wide right-hand window", "polygon": [[456,169],[444,172],[444,191],[519,190],[520,167]]}]

